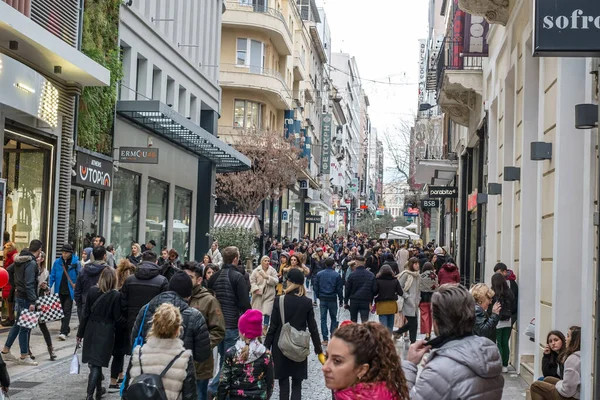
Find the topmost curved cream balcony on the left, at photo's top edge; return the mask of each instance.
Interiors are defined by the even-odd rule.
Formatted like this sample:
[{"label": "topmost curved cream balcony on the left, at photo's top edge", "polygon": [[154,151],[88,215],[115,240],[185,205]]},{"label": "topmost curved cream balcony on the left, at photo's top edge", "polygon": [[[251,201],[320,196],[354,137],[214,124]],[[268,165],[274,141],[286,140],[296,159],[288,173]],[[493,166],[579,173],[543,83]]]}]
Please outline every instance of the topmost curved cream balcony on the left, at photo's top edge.
[{"label": "topmost curved cream balcony on the left, at photo's top edge", "polygon": [[267,33],[279,55],[292,55],[292,34],[280,11],[253,5],[249,0],[228,1],[225,5],[223,29],[243,28]]}]

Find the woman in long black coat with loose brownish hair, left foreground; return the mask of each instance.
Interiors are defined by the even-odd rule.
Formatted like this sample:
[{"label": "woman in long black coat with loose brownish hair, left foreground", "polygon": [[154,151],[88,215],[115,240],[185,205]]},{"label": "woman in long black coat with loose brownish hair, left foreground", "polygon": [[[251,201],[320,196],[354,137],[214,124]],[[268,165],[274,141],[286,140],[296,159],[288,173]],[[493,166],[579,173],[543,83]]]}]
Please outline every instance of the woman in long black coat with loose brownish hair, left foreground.
[{"label": "woman in long black coat with loose brownish hair, left foreground", "polygon": [[77,344],[83,340],[82,363],[90,367],[86,400],[100,400],[106,393],[102,387],[102,368],[108,368],[115,343],[115,325],[121,323],[121,294],[115,290],[117,274],[114,268],[104,268],[98,285],[92,286],[83,308],[77,330]]}]

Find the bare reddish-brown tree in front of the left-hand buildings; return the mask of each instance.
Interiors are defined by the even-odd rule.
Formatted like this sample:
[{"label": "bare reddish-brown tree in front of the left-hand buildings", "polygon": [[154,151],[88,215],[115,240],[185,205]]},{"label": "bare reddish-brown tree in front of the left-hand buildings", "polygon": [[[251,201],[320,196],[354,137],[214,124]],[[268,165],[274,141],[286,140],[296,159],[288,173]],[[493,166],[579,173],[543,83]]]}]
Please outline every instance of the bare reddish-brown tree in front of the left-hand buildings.
[{"label": "bare reddish-brown tree in front of the left-hand buildings", "polygon": [[217,174],[217,197],[236,212],[254,214],[267,198],[278,198],[307,166],[292,139],[276,131],[241,131],[233,146],[250,158],[252,168],[243,172]]}]

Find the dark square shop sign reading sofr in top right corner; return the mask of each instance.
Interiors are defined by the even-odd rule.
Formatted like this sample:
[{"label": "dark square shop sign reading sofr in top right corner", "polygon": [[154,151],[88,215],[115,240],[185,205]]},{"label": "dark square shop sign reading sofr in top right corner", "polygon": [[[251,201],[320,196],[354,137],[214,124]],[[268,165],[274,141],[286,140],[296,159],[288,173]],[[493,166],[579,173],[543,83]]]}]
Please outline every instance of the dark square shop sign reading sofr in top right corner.
[{"label": "dark square shop sign reading sofr in top right corner", "polygon": [[536,0],[533,55],[597,57],[600,52],[600,2]]}]

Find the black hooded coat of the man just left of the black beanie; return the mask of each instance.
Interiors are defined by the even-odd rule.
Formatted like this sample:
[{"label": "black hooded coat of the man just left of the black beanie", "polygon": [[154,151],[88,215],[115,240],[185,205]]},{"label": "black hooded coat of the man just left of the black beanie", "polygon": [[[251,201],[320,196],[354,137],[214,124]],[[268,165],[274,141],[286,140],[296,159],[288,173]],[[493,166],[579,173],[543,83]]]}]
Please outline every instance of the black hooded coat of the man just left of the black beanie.
[{"label": "black hooded coat of the man just left of the black beanie", "polygon": [[[125,283],[121,288],[123,293],[121,303],[124,313],[127,314],[127,327],[125,330],[127,338],[132,334],[131,331],[140,309],[160,293],[166,292],[168,288],[169,281],[160,274],[160,267],[148,261],[139,264],[135,269],[135,273],[125,279]],[[137,332],[135,332],[135,335],[137,335]],[[125,350],[127,354],[131,353],[132,346],[133,342],[129,343],[129,340],[126,340]]]}]

